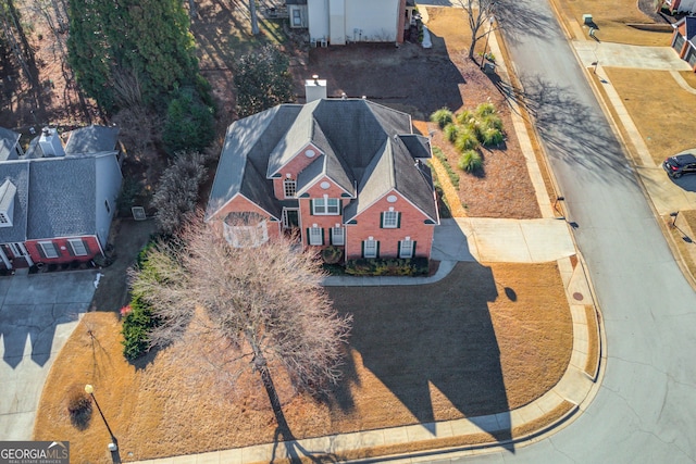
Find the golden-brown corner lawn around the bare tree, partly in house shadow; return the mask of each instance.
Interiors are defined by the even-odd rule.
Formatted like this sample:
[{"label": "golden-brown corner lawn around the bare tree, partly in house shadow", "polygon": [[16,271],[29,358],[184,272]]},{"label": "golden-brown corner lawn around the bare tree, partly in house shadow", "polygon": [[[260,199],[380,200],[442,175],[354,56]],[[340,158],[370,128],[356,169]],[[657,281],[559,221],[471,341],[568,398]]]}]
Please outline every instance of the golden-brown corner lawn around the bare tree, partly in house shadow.
[{"label": "golden-brown corner lawn around the bare tree, partly in house shadow", "polygon": [[[570,359],[572,323],[552,263],[460,263],[427,287],[328,291],[355,315],[350,362],[323,403],[277,379],[297,438],[508,411],[551,388]],[[35,439],[70,440],[74,462],[110,462],[96,412],[83,431],[66,414],[66,391],[92,384],[124,460],[274,441],[254,375],[221,383],[191,340],[130,365],[119,329],[113,313],[84,316],[48,377]]]}]

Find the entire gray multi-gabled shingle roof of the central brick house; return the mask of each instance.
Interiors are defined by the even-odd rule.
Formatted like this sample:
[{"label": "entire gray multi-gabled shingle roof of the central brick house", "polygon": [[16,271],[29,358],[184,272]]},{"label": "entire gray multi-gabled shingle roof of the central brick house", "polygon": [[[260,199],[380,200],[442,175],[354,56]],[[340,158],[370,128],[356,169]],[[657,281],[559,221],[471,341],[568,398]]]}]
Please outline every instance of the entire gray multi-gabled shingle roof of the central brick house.
[{"label": "entire gray multi-gabled shingle roof of the central brick house", "polygon": [[[282,174],[281,168],[309,143],[323,155],[300,174],[298,191],[322,175],[349,192],[358,184],[358,199],[346,208],[348,217],[397,190],[437,222],[430,171],[415,166],[417,158],[431,155],[427,139],[412,134],[408,114],[363,99],[279,105],[233,123],[215,174],[208,217],[239,191],[275,214],[268,205],[274,202],[269,178]],[[247,162],[250,153],[252,163]]]}]

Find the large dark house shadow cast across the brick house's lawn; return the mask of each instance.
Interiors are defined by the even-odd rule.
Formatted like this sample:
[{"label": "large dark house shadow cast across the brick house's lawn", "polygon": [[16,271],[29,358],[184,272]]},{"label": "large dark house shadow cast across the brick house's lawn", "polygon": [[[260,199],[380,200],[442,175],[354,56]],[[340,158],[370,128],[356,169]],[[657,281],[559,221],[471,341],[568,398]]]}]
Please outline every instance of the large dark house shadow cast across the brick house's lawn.
[{"label": "large dark house shadow cast across the brick house's lawn", "polygon": [[499,414],[502,424],[485,431],[514,451],[488,310],[498,298],[489,267],[459,263],[448,277],[427,286],[327,290],[340,313],[353,315],[350,344],[364,367],[423,427],[434,434],[434,423],[443,419],[433,406],[431,390],[436,389],[464,417]]}]

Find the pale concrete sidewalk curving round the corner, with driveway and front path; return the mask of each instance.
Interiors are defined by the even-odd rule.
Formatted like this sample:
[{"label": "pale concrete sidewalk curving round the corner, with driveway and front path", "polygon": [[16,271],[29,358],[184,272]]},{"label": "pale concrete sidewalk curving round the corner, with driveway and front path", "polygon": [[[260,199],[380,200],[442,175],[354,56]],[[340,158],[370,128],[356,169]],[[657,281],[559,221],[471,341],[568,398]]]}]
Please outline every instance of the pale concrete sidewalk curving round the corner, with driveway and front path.
[{"label": "pale concrete sidewalk curving round the corner, with driveway and front path", "polygon": [[[492,36],[490,47],[494,54],[500,55],[495,36]],[[500,70],[500,67],[499,67]],[[505,73],[505,67],[502,66]],[[514,112],[513,112],[514,113]],[[313,439],[297,440],[290,443],[268,443],[234,450],[215,451],[197,455],[175,456],[160,460],[144,461],[144,463],[174,464],[174,463],[220,463],[241,464],[273,462],[311,456],[331,456],[341,461],[341,456],[360,453],[375,447],[398,446],[414,441],[431,442],[423,444],[423,449],[436,452],[442,459],[444,452],[438,450],[451,446],[439,444],[450,442],[457,438],[467,442],[467,437],[473,437],[482,431],[496,435],[509,432],[517,427],[529,424],[544,424],[540,429],[535,428],[527,438],[515,441],[534,441],[552,432],[557,427],[569,423],[569,418],[577,416],[594,398],[599,387],[599,369],[586,372],[588,353],[591,352],[589,330],[597,330],[597,321],[587,321],[585,305],[594,304],[589,284],[583,271],[582,262],[575,259],[576,250],[568,223],[557,218],[558,214],[548,201],[548,193],[542,179],[536,156],[532,150],[524,123],[515,114],[515,130],[527,160],[527,168],[532,184],[537,192],[537,200],[544,218],[539,220],[496,220],[458,217],[443,220],[435,229],[433,240],[434,260],[440,261],[439,269],[430,277],[327,277],[328,286],[393,286],[393,285],[423,285],[444,278],[453,266],[461,261],[478,262],[515,262],[538,263],[556,261],[566,288],[573,322],[573,350],[566,374],[561,380],[546,394],[532,403],[498,414],[468,417],[457,421],[446,421],[432,424],[419,424],[394,427],[381,430],[366,430],[355,434],[340,434]],[[522,131],[522,133],[520,133]],[[568,411],[555,421],[545,419],[559,407]],[[532,438],[532,436],[534,438]],[[509,443],[493,442],[488,444],[463,444],[448,453],[449,456],[465,456],[481,453],[492,447],[506,447]],[[437,450],[437,451],[436,451]],[[364,454],[368,455],[368,454]],[[419,457],[401,456],[389,459],[395,463],[427,462],[432,460],[428,451],[420,453]],[[332,461],[334,462],[334,461]]]}]

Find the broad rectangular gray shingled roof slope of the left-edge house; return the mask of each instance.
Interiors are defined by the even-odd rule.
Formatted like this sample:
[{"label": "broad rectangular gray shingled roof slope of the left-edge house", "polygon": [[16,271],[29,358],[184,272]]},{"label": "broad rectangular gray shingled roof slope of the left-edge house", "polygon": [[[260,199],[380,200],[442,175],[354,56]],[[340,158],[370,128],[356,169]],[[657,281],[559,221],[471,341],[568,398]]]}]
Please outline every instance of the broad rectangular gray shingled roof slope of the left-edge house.
[{"label": "broad rectangular gray shingled roof slope of the left-edge house", "polygon": [[96,234],[95,158],[33,160],[27,239]]}]

